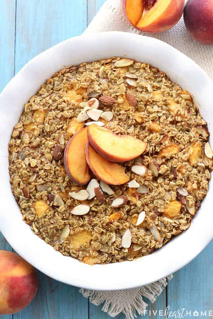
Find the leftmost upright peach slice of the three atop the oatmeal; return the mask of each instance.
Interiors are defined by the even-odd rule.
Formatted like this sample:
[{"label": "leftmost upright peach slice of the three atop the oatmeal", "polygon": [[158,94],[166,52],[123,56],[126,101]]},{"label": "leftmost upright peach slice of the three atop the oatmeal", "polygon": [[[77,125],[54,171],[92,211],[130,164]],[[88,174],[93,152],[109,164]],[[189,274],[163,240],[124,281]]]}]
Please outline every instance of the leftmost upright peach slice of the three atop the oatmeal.
[{"label": "leftmost upright peach slice of the three atop the oatmeal", "polygon": [[69,140],[64,152],[64,165],[69,178],[78,185],[90,180],[89,167],[85,156],[87,127],[81,129]]}]

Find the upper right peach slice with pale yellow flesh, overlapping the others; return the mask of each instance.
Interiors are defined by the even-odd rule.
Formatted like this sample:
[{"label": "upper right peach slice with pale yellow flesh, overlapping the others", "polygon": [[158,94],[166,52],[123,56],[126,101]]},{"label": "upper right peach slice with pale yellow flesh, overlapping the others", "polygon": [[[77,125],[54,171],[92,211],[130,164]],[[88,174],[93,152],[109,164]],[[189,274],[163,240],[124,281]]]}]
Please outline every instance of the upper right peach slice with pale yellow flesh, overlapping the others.
[{"label": "upper right peach slice with pale yellow flesh, overlapping the others", "polygon": [[89,126],[87,138],[92,148],[111,162],[126,162],[141,155],[147,143],[129,135],[118,135],[105,127]]}]

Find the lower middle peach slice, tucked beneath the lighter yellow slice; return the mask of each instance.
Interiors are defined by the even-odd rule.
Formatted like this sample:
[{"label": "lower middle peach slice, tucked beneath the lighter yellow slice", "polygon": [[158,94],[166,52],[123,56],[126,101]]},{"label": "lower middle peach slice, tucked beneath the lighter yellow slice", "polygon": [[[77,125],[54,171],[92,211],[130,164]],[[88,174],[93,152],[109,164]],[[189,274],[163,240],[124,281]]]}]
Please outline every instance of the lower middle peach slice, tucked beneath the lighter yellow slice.
[{"label": "lower middle peach slice, tucked beneath the lighter yellow slice", "polygon": [[107,184],[121,185],[129,181],[121,165],[111,163],[101,157],[89,143],[86,146],[86,160],[93,174]]}]

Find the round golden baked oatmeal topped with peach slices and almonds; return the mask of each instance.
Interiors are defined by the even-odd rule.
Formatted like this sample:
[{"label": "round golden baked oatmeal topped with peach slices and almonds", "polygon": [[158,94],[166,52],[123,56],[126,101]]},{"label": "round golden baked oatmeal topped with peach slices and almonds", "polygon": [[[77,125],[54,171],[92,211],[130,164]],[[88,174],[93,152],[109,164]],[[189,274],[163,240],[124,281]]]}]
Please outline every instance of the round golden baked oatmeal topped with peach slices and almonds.
[{"label": "round golden baked oatmeal topped with peach slices and almonds", "polygon": [[208,138],[191,94],[158,68],[82,63],[25,104],[9,143],[12,193],[63,255],[133,260],[190,227],[208,190]]}]

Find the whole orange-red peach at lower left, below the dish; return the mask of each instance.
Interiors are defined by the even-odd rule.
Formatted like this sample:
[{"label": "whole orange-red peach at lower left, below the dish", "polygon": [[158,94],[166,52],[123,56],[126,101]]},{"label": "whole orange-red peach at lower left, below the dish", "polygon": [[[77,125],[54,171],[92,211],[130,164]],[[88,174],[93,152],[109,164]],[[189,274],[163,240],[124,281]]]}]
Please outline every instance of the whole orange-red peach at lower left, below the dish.
[{"label": "whole orange-red peach at lower left, below the dish", "polygon": [[38,289],[36,272],[20,256],[0,250],[0,315],[27,307]]}]

